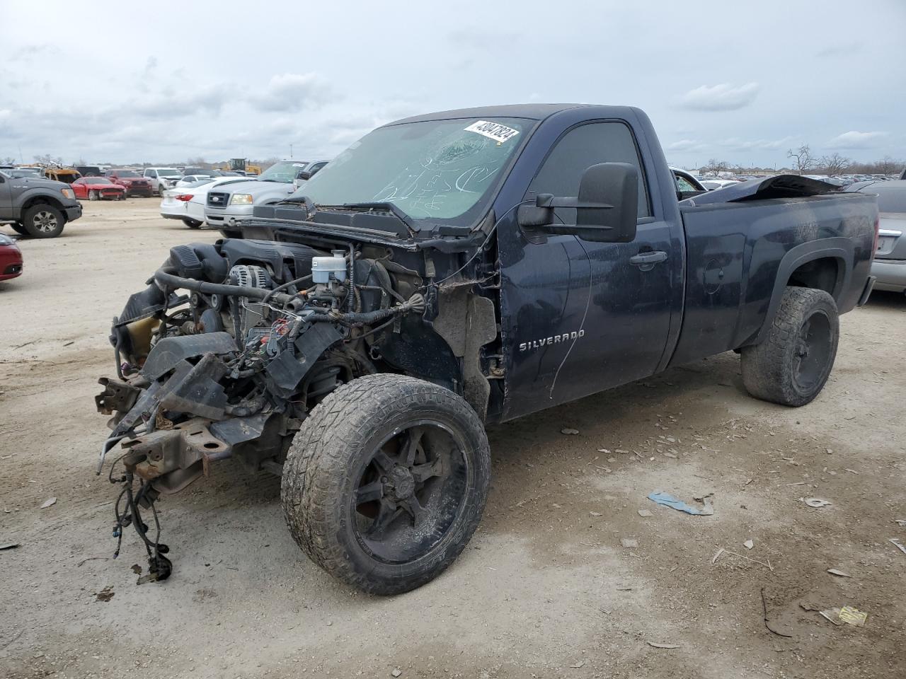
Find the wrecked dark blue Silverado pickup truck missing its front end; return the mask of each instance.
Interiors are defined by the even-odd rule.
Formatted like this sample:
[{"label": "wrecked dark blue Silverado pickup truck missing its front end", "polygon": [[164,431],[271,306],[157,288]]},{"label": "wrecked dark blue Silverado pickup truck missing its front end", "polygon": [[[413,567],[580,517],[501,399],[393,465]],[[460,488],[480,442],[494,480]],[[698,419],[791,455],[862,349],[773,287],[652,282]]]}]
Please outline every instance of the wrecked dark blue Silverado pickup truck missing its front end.
[{"label": "wrecked dark blue Silverado pickup truck missing its front end", "polygon": [[729,350],[753,396],[803,406],[872,288],[874,197],[832,191],[680,193],[632,108],[375,129],[241,238],[173,248],[114,321],[114,535],[134,527],[167,579],[155,502],[233,457],[282,475],[315,563],[403,592],[477,527],[487,423]]}]

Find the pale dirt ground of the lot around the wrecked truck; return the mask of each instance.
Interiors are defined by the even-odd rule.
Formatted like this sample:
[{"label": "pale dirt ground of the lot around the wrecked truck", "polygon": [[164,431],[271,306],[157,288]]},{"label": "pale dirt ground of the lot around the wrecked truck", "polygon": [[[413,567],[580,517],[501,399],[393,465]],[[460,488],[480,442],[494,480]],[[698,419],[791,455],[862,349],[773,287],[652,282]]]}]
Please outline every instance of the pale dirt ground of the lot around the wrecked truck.
[{"label": "pale dirt ground of the lot around the wrecked truck", "polygon": [[[0,283],[0,543],[19,544],[0,550],[0,675],[906,676],[906,554],[889,541],[906,544],[906,298],[887,293],[843,317],[809,406],[748,397],[728,353],[493,427],[484,520],[417,591],[373,598],[317,569],[279,480],[229,461],[159,503],[174,574],[137,586],[131,532],[111,558],[92,397],[127,295],[170,246],[217,238],[157,206],[86,202],[63,237],[22,241],[24,275]],[[713,493],[714,514],[655,490]],[[816,612],[842,606],[864,626]]]}]

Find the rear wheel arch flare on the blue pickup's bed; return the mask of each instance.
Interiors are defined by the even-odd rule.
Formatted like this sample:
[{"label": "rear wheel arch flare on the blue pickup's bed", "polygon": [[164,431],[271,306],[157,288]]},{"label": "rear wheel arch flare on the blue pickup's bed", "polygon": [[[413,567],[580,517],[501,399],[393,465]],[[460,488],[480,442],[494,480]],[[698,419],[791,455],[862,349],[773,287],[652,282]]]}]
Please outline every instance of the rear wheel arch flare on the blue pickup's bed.
[{"label": "rear wheel arch flare on the blue pickup's bed", "polygon": [[789,286],[824,290],[839,304],[853,278],[855,253],[849,238],[822,238],[791,248],[780,260],[765,322],[753,344],[763,341]]}]

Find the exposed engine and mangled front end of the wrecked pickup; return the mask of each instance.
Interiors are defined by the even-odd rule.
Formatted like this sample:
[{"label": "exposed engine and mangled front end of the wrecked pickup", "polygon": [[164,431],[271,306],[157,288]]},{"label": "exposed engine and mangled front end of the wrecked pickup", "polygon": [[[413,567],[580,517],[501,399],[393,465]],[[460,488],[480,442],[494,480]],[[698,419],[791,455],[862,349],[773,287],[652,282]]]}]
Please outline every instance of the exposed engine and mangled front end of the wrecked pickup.
[{"label": "exposed engine and mangled front end of the wrecked pickup", "polygon": [[[162,580],[171,564],[159,496],[226,457],[280,473],[324,396],[353,378],[403,371],[382,348],[398,343],[404,323],[422,325],[430,292],[385,247],[243,239],[174,247],[148,283],[111,328],[119,379],[101,378],[96,397],[112,416],[98,473],[120,445],[109,473],[122,484],[113,535],[132,525],[148,550],[146,577]],[[153,538],[142,510],[153,514]]]}]

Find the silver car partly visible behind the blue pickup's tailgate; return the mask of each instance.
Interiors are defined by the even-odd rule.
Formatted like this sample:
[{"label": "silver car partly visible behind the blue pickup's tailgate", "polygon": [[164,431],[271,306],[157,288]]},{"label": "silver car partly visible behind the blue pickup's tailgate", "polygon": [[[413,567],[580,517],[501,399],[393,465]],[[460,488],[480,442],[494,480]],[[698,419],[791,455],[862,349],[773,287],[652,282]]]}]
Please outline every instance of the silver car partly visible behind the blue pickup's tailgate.
[{"label": "silver car partly visible behind the blue pickup's tailgate", "polygon": [[875,290],[906,292],[906,180],[861,182],[847,186],[878,196],[878,244],[874,249],[872,276]]}]

